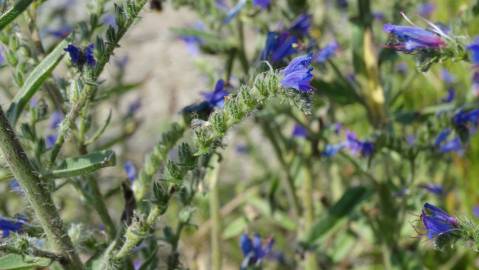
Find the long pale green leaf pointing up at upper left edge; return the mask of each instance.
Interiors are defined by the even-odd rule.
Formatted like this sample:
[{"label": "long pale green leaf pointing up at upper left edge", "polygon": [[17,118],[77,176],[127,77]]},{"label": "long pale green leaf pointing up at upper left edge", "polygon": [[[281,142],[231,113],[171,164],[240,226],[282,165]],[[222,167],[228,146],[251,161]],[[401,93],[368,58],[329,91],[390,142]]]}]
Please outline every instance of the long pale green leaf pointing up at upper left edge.
[{"label": "long pale green leaf pointing up at upper left edge", "polygon": [[68,42],[66,39],[60,42],[28,75],[22,89],[15,95],[7,111],[8,120],[12,125],[16,124],[25,106],[58,65],[65,53],[63,49],[66,48],[67,45]]}]

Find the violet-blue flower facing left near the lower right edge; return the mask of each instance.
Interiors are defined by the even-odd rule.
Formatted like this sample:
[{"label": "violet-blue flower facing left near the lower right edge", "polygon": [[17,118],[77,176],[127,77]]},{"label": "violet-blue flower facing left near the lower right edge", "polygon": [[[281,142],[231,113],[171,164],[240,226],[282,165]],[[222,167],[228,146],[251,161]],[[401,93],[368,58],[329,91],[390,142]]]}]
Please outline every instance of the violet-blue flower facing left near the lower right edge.
[{"label": "violet-blue flower facing left near the lower right edge", "polygon": [[421,220],[429,239],[451,233],[459,227],[459,222],[455,217],[429,203],[424,204]]}]

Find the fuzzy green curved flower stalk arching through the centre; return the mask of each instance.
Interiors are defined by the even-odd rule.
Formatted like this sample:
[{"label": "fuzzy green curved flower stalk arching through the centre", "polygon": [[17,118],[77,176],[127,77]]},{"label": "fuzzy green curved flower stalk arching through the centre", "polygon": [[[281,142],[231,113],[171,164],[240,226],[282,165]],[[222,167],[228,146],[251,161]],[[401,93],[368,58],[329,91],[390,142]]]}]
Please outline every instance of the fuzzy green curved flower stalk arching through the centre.
[{"label": "fuzzy green curved flower stalk arching through the centre", "polygon": [[[172,187],[181,185],[189,171],[197,166],[205,166],[198,162],[199,157],[214,153],[221,146],[221,140],[231,127],[241,122],[269,99],[278,97],[290,101],[288,91],[280,84],[280,74],[275,71],[261,73],[256,76],[251,87],[243,86],[236,94],[228,96],[225,99],[224,108],[213,112],[208,121],[196,124],[193,127],[193,144],[183,143],[178,147],[178,162],[172,160],[166,162],[164,180],[155,184],[153,192],[153,201],[156,203],[150,206],[148,213],[138,216],[126,229],[124,242],[120,248],[115,249],[112,246],[109,249],[110,252],[104,254],[104,264],[115,264],[125,259],[131,250],[148,235],[157,218],[166,212],[168,200],[172,195]],[[194,122],[193,124],[195,124]],[[158,147],[161,149],[163,146]],[[196,151],[196,153],[192,151]],[[137,182],[140,183],[140,181]],[[143,188],[151,189],[146,186]]]}]

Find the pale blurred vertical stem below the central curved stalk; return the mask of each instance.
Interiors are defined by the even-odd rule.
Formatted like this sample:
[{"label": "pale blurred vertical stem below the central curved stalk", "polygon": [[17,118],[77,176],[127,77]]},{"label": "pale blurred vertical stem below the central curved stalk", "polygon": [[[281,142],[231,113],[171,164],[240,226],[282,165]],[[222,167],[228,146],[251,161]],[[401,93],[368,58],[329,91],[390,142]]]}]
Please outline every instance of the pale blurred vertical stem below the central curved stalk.
[{"label": "pale blurred vertical stem below the central curved stalk", "polygon": [[210,218],[211,218],[211,269],[221,270],[222,252],[221,252],[221,216],[218,173],[219,162],[218,155],[211,157],[206,179],[210,186]]}]

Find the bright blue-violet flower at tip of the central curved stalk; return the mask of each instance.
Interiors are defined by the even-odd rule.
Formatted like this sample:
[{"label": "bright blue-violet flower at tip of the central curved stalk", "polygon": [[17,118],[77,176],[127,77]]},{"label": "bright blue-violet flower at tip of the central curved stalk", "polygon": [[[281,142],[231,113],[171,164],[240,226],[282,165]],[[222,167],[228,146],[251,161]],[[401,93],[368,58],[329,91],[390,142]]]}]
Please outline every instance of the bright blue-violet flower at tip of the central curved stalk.
[{"label": "bright blue-violet flower at tip of the central curved stalk", "polygon": [[313,68],[311,67],[311,55],[303,55],[294,58],[289,65],[281,71],[283,79],[281,85],[284,88],[293,88],[300,92],[311,92],[311,80]]}]

